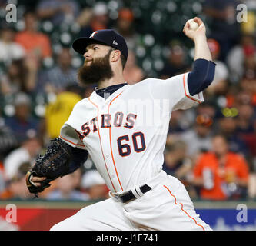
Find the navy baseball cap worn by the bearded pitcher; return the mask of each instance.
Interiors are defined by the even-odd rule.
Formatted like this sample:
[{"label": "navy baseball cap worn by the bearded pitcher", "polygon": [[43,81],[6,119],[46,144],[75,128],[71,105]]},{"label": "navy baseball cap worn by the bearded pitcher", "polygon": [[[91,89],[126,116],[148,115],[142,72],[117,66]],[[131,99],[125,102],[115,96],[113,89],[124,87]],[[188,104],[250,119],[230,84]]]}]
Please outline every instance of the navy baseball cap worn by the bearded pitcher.
[{"label": "navy baseball cap worn by the bearded pitcher", "polygon": [[73,42],[72,47],[76,52],[84,55],[86,47],[92,43],[111,46],[118,49],[126,59],[128,58],[128,47],[125,38],[113,29],[98,30],[93,32],[90,37],[77,38]]}]

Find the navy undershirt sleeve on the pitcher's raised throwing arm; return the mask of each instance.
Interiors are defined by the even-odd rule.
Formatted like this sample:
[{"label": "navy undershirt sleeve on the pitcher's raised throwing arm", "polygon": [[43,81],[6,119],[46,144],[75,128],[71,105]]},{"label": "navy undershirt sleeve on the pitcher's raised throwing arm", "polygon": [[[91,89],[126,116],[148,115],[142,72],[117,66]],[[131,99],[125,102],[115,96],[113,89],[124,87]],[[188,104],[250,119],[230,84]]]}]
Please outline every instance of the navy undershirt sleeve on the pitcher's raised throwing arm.
[{"label": "navy undershirt sleeve on the pitcher's raised throwing arm", "polygon": [[196,95],[211,85],[215,74],[214,62],[206,59],[194,61],[192,71],[188,74],[188,90],[190,95]]}]

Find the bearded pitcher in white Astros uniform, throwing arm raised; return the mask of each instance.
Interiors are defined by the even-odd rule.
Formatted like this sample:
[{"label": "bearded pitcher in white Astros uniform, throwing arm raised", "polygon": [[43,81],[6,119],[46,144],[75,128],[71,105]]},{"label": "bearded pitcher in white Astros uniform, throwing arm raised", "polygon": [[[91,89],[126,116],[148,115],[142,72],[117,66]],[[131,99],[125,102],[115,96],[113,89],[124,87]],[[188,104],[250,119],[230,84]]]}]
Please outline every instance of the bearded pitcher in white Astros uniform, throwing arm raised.
[{"label": "bearded pitcher in white Astros uniform, throwing arm raised", "polygon": [[202,91],[214,78],[204,23],[197,17],[194,22],[198,28],[187,22],[183,29],[194,41],[193,68],[166,80],[128,85],[123,77],[128,48],[114,30],[73,42],[85,57],[78,80],[98,88],[75,105],[59,138],[35,161],[26,176],[28,190],[38,194],[90,155],[110,198],[82,208],[52,230],[211,230],[194,211],[184,185],[162,170],[171,111],[204,101]]}]

